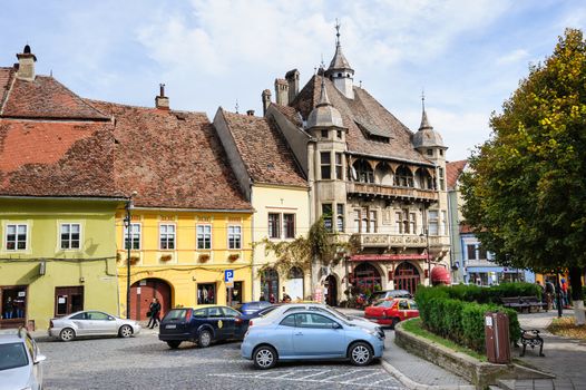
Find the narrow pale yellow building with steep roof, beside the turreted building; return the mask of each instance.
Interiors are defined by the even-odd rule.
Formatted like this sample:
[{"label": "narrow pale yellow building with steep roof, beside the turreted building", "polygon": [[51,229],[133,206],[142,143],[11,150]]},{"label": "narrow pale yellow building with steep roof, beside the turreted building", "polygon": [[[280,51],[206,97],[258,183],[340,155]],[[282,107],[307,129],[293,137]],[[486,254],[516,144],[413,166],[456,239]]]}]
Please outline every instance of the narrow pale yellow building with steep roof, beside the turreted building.
[{"label": "narrow pale yellow building with steep roof, beside the turreted building", "polygon": [[265,251],[265,240],[291,242],[310,228],[310,189],[300,164],[277,126],[253,113],[218,109],[214,127],[226,149],[241,187],[255,211],[253,217],[253,300],[306,299],[312,294],[311,266],[293,259],[279,262]]}]

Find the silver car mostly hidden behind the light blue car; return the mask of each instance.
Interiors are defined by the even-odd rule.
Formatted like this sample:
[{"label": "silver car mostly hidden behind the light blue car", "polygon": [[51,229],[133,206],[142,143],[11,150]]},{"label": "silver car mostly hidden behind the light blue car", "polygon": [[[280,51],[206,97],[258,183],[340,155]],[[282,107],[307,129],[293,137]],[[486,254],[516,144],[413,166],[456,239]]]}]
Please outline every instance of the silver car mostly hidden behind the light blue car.
[{"label": "silver car mostly hidden behind the light blue car", "polygon": [[374,331],[379,332],[379,334],[384,339],[384,331],[382,330],[381,326],[377,325],[375,323],[373,323],[373,322],[371,322],[369,320],[365,320],[365,319],[363,319],[361,316],[346,315],[346,314],[342,313],[341,311],[339,311],[339,310],[336,310],[336,309],[334,309],[332,306],[329,306],[326,304],[322,304],[322,303],[281,303],[281,304],[275,304],[275,305],[265,308],[265,309],[258,311],[257,313],[251,315],[250,318],[242,316],[242,320],[243,320],[243,323],[242,323],[243,337],[244,337],[244,333],[246,332],[246,329],[248,328],[250,321],[254,320],[254,321],[261,321],[262,322],[262,321],[265,321],[265,319],[268,318],[268,316],[280,315],[282,313],[290,312],[290,311],[296,310],[296,309],[306,309],[306,310],[314,310],[314,311],[325,312],[328,314],[336,316],[341,321],[345,321],[345,322],[350,323],[351,325],[365,328],[368,330],[374,330]]}]

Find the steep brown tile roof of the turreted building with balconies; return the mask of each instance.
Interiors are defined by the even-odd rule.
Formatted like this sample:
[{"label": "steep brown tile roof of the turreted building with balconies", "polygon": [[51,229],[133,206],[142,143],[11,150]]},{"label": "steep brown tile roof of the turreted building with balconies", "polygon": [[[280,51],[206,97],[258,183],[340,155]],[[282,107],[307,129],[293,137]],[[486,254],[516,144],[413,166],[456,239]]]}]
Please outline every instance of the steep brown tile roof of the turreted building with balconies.
[{"label": "steep brown tile roof of the turreted building with balconies", "polygon": [[[330,103],[340,111],[344,127],[348,127],[346,144],[350,153],[431,165],[429,159],[413,148],[411,143],[413,133],[367,90],[354,87],[354,99],[348,99],[328,78],[325,78],[325,88]],[[291,106],[301,111],[304,118],[307,118],[320,99],[320,92],[321,77],[313,76]],[[357,121],[369,128],[378,129],[390,142],[369,139],[359,128]]]}]

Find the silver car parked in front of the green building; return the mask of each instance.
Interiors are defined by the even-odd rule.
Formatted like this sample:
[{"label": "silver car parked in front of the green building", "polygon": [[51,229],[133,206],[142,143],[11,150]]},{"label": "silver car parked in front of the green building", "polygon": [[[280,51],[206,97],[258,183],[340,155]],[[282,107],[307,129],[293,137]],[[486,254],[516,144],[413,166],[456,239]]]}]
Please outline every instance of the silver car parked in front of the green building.
[{"label": "silver car parked in front of the green building", "polygon": [[71,341],[77,337],[86,335],[118,335],[129,338],[140,332],[140,325],[134,320],[124,320],[117,316],[96,311],[76,312],[49,323],[49,335],[62,341]]}]

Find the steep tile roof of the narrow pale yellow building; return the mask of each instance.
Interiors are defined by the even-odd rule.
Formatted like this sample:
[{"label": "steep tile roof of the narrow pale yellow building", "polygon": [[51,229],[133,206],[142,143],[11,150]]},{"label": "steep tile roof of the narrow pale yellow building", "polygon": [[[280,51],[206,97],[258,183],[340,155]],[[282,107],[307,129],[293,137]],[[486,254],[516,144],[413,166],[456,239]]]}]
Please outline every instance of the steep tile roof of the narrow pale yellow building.
[{"label": "steep tile roof of the narrow pale yellow building", "polygon": [[224,109],[221,113],[255,183],[307,186],[293,153],[274,123]]}]

